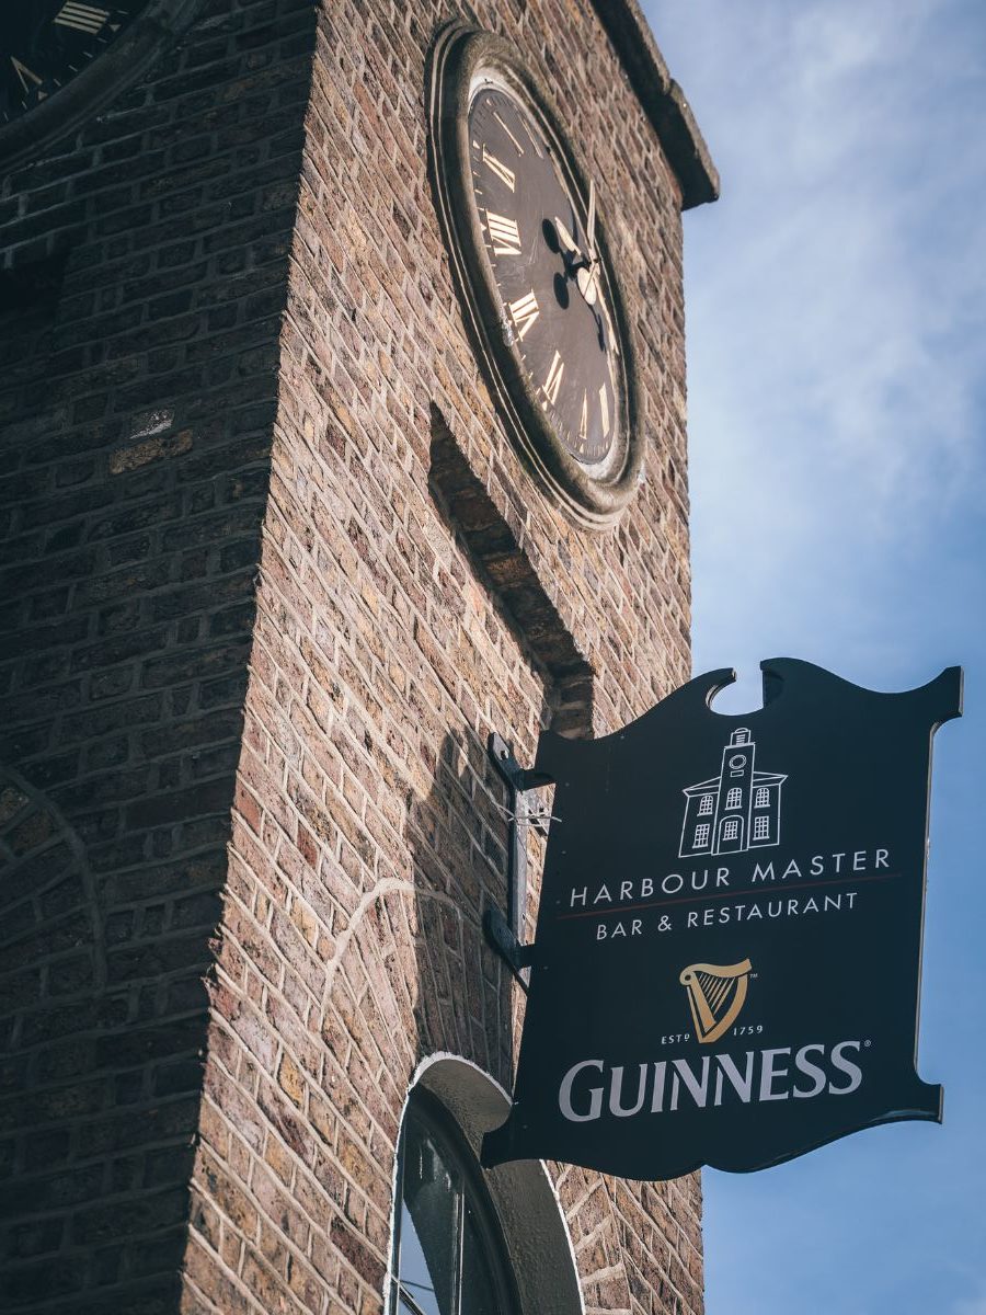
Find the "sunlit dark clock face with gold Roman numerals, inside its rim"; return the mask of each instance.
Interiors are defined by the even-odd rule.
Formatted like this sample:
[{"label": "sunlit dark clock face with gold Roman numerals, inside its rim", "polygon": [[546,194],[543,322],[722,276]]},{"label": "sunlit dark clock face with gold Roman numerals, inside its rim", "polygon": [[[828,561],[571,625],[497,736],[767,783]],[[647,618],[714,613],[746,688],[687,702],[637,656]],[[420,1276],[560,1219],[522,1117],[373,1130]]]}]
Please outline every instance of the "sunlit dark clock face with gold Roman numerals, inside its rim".
[{"label": "sunlit dark clock face with gold Roman numerals, inside its rim", "polygon": [[[518,383],[578,463],[621,439],[626,384],[594,199],[506,85],[479,79],[468,112],[472,201]],[[594,191],[594,189],[593,189]]]}]

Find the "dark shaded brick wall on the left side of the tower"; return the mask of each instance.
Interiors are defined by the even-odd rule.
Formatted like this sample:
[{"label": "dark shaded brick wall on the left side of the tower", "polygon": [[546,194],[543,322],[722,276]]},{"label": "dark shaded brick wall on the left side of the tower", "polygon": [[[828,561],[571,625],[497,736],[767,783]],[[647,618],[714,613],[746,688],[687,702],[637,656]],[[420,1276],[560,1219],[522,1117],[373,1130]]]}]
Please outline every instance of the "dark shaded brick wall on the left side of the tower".
[{"label": "dark shaded brick wall on the left side of the tower", "polygon": [[0,1308],[174,1310],[314,36],[209,0],[0,192]]}]

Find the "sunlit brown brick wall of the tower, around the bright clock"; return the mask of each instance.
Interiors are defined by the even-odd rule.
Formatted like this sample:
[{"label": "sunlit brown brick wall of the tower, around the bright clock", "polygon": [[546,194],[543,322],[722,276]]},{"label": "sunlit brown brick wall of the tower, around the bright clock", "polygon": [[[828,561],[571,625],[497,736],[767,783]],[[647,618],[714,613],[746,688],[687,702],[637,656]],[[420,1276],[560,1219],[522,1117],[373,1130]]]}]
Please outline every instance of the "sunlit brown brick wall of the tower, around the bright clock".
[{"label": "sunlit brown brick wall of the tower, around the bright clock", "polygon": [[[480,931],[505,899],[486,735],[530,760],[540,726],[611,730],[689,671],[676,183],[588,4],[479,7],[597,171],[630,299],[646,481],[586,534],[523,473],[450,280],[423,107],[450,12],[319,24],[188,1311],[381,1308],[417,1063],[510,1085],[522,1002]],[[586,1310],[701,1310],[697,1181],[552,1172]]]}]

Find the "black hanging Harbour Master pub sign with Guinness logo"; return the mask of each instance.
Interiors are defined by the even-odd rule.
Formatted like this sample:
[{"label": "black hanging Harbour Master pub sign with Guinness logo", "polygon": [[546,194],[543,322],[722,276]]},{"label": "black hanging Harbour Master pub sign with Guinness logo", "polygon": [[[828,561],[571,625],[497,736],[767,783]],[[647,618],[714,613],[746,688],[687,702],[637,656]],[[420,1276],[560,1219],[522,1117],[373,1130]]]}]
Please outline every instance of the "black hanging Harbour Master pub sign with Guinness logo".
[{"label": "black hanging Harbour Master pub sign with Guinness logo", "polygon": [[961,671],[878,694],[793,659],[710,672],[556,782],[517,1084],[484,1162],[751,1170],[941,1119],[915,1070],[931,738]]}]

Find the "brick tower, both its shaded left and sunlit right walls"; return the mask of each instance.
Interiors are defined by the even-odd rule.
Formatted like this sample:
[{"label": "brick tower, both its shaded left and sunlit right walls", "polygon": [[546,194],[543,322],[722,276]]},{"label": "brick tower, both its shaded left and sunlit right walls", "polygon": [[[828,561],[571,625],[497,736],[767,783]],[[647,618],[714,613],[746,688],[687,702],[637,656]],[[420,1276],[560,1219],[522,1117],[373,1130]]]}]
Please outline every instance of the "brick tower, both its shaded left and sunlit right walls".
[{"label": "brick tower, both its shaded left and sunlit right walls", "polygon": [[[601,527],[467,323],[456,18],[598,180],[642,442]],[[379,1312],[409,1090],[465,1145],[511,1085],[488,735],[530,761],[689,673],[681,212],[716,179],[634,0],[149,0],[126,39],[78,93],[18,74],[0,129],[0,1307]],[[525,1172],[490,1176],[518,1308],[701,1311],[697,1178]]]}]

